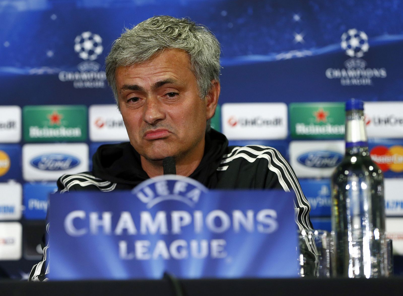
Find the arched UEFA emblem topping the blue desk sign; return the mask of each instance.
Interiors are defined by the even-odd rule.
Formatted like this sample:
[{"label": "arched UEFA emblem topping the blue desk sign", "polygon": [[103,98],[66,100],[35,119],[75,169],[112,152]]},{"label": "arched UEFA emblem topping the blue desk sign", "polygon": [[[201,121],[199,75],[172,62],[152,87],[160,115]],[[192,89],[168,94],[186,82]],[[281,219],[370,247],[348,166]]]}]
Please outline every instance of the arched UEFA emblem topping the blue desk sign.
[{"label": "arched UEFA emblem topping the blue desk sign", "polygon": [[191,178],[165,175],[142,182],[132,193],[150,209],[162,201],[180,201],[194,207],[202,193],[207,191],[203,184]]}]

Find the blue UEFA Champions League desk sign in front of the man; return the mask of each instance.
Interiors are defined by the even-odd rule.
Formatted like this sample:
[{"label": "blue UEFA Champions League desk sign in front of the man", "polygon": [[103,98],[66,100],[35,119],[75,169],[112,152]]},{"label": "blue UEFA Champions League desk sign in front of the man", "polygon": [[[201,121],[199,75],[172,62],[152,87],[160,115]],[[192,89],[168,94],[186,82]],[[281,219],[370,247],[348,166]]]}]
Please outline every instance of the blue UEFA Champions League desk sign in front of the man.
[{"label": "blue UEFA Champions League desk sign in front of the man", "polygon": [[50,196],[51,280],[297,277],[294,193],[166,175]]}]

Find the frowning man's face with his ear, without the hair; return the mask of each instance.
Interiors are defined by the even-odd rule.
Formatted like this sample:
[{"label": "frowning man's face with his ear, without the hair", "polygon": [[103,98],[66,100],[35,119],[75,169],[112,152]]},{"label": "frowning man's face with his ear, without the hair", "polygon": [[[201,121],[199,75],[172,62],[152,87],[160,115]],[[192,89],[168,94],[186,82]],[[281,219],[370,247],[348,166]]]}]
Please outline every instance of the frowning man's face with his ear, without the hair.
[{"label": "frowning man's face with his ear, without the hair", "polygon": [[216,104],[199,97],[185,51],[166,49],[141,64],[118,67],[115,77],[130,143],[141,156],[182,159],[204,150],[206,120]]}]

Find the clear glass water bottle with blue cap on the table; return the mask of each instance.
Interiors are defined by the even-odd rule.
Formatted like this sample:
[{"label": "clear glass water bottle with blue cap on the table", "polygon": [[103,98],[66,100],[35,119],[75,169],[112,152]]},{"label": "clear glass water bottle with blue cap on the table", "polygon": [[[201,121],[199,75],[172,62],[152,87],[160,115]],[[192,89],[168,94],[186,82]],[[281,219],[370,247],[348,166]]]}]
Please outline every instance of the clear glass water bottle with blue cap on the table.
[{"label": "clear glass water bottle with blue cap on the table", "polygon": [[346,103],[345,140],[331,178],[336,274],[387,276],[383,174],[370,158],[362,101]]}]

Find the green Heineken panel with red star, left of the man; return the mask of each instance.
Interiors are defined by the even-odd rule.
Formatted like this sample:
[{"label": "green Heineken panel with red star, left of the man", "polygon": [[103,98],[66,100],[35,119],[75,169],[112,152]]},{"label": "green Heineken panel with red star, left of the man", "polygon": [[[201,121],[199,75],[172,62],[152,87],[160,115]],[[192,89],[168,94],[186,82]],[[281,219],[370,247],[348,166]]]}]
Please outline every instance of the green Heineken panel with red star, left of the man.
[{"label": "green Heineken panel with red star, left of the man", "polygon": [[87,108],[85,106],[25,106],[25,141],[85,141]]}]

